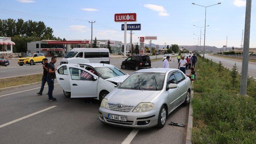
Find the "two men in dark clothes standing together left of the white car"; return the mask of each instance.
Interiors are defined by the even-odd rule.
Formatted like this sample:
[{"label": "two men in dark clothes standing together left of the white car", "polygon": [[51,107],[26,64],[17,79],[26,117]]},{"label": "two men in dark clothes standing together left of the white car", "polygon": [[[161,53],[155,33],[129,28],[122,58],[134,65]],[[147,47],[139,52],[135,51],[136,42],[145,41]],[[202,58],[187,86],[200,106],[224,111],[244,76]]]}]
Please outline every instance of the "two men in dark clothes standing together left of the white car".
[{"label": "two men in dark clothes standing together left of the white car", "polygon": [[38,92],[37,94],[42,95],[42,92],[44,90],[44,85],[47,82],[49,101],[56,101],[57,99],[52,96],[52,92],[54,89],[54,79],[56,78],[55,71],[57,70],[57,68],[55,68],[54,64],[57,62],[57,57],[53,56],[51,58],[50,63],[48,63],[47,58],[44,58],[43,62],[44,62],[44,64],[43,64],[44,72],[43,72],[43,76],[42,76],[42,85],[41,85],[40,92]]}]

